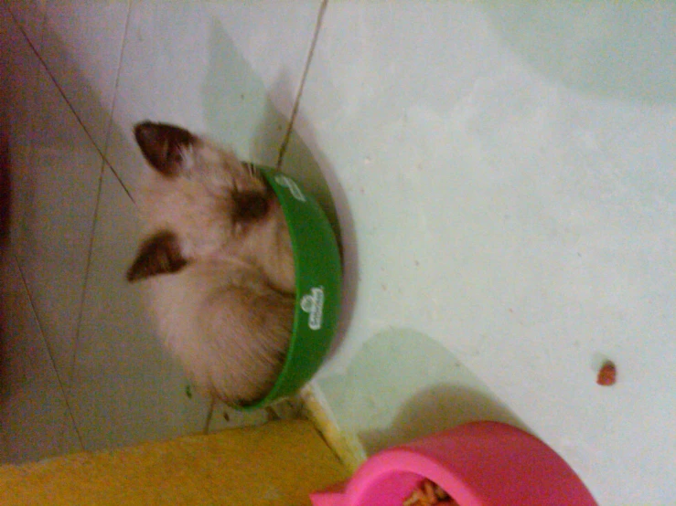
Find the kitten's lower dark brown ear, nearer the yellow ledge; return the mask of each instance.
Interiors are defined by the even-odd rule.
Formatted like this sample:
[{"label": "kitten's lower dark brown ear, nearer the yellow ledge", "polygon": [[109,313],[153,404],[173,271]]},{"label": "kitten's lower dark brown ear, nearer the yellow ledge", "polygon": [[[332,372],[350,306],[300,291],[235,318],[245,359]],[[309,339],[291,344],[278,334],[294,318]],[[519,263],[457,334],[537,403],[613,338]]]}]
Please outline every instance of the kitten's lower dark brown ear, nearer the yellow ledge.
[{"label": "kitten's lower dark brown ear, nearer the yellow ledge", "polygon": [[188,260],[181,255],[177,237],[172,232],[158,232],[141,244],[134,264],[127,270],[127,280],[137,281],[177,272],[187,263]]}]

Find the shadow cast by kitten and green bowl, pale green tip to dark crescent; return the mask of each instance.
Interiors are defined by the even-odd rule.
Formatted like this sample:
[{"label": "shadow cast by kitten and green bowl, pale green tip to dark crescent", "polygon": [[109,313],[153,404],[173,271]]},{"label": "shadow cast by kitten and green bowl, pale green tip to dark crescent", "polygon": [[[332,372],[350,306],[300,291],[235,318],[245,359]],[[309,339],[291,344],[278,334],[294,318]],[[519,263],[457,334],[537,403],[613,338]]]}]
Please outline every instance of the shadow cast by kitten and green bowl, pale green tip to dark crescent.
[{"label": "shadow cast by kitten and green bowl, pale green tip to dark crescent", "polygon": [[[252,121],[242,118],[241,108],[251,111],[253,121],[252,137],[238,139],[241,145],[249,145],[252,162],[274,164],[283,149],[288,119],[274,106],[265,90],[263,81],[256,75],[249,63],[238,52],[231,37],[220,23],[214,20],[209,34],[209,68],[202,87],[205,106],[205,119],[209,133],[224,142],[232,142],[241,132],[249,132],[241,125],[233,124],[233,119]],[[236,62],[233,64],[233,62]],[[231,69],[237,69],[233,75]],[[274,96],[284,103],[293,104],[294,85],[288,75],[281,73],[273,85]],[[249,97],[266,97],[264,103],[245,104]],[[243,103],[243,105],[242,105]],[[303,125],[303,137],[293,131],[284,152],[281,170],[294,177],[313,195],[327,214],[331,223],[343,260],[343,298],[338,332],[332,346],[332,353],[341,343],[357,297],[357,246],[356,234],[347,197],[339,183],[338,176],[327,158],[315,142],[315,136],[302,114],[295,118],[295,125]],[[311,147],[308,147],[311,146]],[[338,209],[337,209],[338,207]],[[340,219],[338,219],[338,210]]]}]

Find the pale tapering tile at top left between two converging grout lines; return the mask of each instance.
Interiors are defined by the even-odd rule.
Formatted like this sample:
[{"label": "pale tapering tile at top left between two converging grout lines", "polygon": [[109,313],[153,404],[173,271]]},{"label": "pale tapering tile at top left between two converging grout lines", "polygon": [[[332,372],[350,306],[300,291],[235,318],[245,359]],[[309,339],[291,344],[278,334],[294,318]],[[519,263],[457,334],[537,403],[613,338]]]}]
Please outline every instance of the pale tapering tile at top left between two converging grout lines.
[{"label": "pale tapering tile at top left between two converging grout lines", "polygon": [[113,111],[129,0],[47,0],[40,54],[103,152]]}]

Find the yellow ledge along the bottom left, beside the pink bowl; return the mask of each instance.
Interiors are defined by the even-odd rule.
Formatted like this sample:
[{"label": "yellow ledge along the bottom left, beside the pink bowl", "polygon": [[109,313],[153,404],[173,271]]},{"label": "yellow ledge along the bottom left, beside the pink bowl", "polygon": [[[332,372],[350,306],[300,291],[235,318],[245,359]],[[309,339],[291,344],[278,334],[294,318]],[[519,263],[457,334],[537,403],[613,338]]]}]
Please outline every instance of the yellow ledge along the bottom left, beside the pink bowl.
[{"label": "yellow ledge along the bottom left, beside the pink bowl", "polygon": [[306,506],[347,470],[306,420],[0,467],[8,505]]}]

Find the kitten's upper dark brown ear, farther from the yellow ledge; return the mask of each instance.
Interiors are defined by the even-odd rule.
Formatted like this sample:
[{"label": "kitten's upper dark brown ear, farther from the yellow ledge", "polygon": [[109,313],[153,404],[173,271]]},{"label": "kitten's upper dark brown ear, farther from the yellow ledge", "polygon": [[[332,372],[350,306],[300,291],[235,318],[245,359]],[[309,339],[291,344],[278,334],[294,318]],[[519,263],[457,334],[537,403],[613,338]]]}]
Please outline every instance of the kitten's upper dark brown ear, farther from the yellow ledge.
[{"label": "kitten's upper dark brown ear, farther from the yellow ledge", "polygon": [[181,148],[196,140],[186,129],[152,121],[136,124],[134,137],[145,160],[165,175],[178,174],[182,162]]}]

